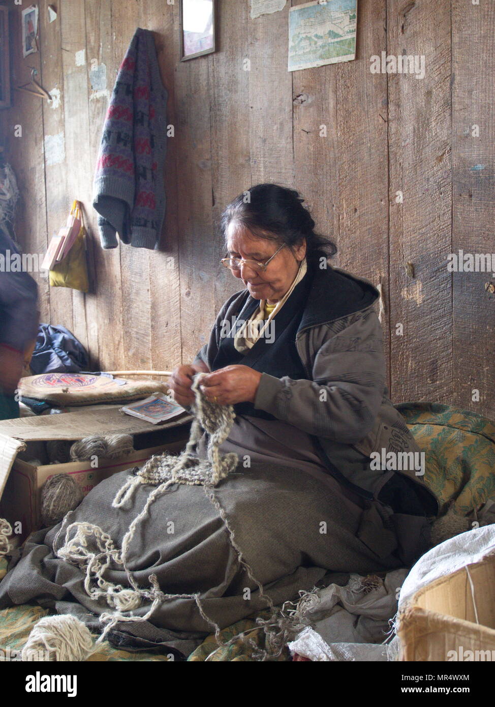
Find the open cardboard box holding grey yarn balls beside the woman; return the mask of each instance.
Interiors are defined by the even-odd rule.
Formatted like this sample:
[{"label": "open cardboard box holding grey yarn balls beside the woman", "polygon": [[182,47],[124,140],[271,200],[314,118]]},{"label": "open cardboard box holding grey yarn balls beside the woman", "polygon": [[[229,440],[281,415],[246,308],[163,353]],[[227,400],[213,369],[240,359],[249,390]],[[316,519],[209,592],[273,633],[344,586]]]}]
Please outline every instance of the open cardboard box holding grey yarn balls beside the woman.
[{"label": "open cardboard box holding grey yarn balls beside the woman", "polygon": [[[13,527],[20,522],[16,537],[23,540],[41,527],[41,487],[54,474],[71,474],[86,495],[103,479],[142,466],[153,454],[184,449],[191,416],[184,415],[157,426],[123,415],[119,407],[0,422],[0,517]],[[6,435],[6,431],[12,436]],[[28,460],[40,456],[38,452],[46,440],[76,441],[97,431],[132,434],[136,451],[119,459],[100,459],[97,467],[91,462],[33,464]]]}]

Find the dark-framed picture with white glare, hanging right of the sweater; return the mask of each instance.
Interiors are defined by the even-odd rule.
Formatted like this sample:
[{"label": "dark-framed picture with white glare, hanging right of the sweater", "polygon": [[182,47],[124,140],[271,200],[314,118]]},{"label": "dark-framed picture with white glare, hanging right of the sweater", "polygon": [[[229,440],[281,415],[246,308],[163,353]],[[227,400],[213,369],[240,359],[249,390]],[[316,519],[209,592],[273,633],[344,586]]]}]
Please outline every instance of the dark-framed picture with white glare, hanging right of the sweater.
[{"label": "dark-framed picture with white glare, hanging right of the sweater", "polygon": [[181,62],[215,52],[215,0],[179,0]]}]

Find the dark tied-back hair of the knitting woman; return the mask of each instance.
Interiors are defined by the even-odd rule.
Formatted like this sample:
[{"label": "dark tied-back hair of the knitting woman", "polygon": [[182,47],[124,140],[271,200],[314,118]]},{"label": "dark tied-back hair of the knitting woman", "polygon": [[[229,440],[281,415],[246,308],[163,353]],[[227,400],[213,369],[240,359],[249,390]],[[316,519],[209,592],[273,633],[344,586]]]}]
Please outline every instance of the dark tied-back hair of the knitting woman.
[{"label": "dark tied-back hair of the knitting woman", "polygon": [[306,258],[314,262],[321,257],[332,257],[335,244],[315,233],[314,221],[302,205],[304,199],[295,189],[278,184],[258,184],[239,194],[225,207],[220,216],[220,233],[227,240],[229,223],[235,221],[247,228],[255,238],[275,240],[290,248],[306,239]]}]

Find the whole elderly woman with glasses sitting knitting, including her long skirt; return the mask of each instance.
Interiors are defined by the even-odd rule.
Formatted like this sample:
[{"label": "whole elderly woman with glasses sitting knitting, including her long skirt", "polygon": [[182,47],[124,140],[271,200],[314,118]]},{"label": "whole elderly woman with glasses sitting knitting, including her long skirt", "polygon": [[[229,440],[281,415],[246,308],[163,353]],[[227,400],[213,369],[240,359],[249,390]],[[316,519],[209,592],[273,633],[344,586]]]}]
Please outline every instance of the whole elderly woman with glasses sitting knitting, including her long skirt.
[{"label": "whole elderly woman with glasses sitting knitting, including her long skirt", "polygon": [[[119,645],[186,655],[213,623],[247,617],[267,596],[281,604],[330,583],[333,573],[410,565],[428,548],[438,509],[424,465],[414,463],[415,441],[387,397],[374,286],[330,267],[326,251],[335,249],[316,235],[292,189],[253,187],[249,199],[227,206],[221,229],[222,265],[244,288],[223,305],[193,363],[174,370],[170,387],[189,407],[193,378],[205,373],[203,394],[236,411],[220,451],[236,452],[239,462],[215,486],[214,503],[201,486],[175,484],[150,506],[126,566],[134,586],[149,587],[153,574],[173,596],[117,624],[109,639]],[[203,438],[196,455],[205,451]],[[398,469],[401,452],[411,463]],[[153,489],[138,485],[135,502],[117,508],[132,474],[102,481],[64,523],[30,537],[0,584],[0,607],[41,596],[67,612],[73,602],[71,613],[101,628],[97,615],[108,607],[88,597],[77,563],[60,558],[60,538],[82,522],[121,547]],[[105,580],[129,587],[118,566]]]}]

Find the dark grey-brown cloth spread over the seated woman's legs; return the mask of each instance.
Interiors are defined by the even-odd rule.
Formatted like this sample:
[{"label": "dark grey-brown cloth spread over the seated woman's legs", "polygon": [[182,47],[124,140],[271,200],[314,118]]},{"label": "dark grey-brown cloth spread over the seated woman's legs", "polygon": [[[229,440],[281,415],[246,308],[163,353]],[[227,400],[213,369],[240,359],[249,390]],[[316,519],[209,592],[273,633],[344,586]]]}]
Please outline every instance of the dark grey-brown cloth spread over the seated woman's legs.
[{"label": "dark grey-brown cloth spread over the seated woman's legs", "polygon": [[[121,547],[131,521],[153,489],[139,486],[128,508],[112,508],[129,474],[115,474],[95,486],[66,516],[64,527],[76,521],[99,525]],[[378,504],[366,510],[354,506],[342,496],[337,482],[322,484],[299,469],[261,463],[244,469],[239,464],[214,493],[244,559],[274,604],[297,599],[299,590],[311,590],[323,576],[331,581],[328,571],[366,574],[403,566],[393,554],[395,533],[383,525]],[[54,556],[60,527],[28,538],[0,583],[0,607],[36,600],[59,614],[74,614],[88,628],[100,631],[98,615],[111,609],[104,600],[88,597],[83,571]],[[258,587],[239,564],[225,524],[203,486],[176,484],[158,498],[138,527],[128,558],[140,587],[149,587],[148,576],[153,572],[164,592],[200,592],[205,614],[220,628],[266,607]],[[124,571],[109,569],[105,577],[129,586]],[[149,608],[150,603],[144,604],[134,615],[142,617]],[[194,600],[177,599],[160,604],[148,621],[117,624],[108,638],[121,647],[154,646],[189,655],[208,633],[211,626]]]}]

